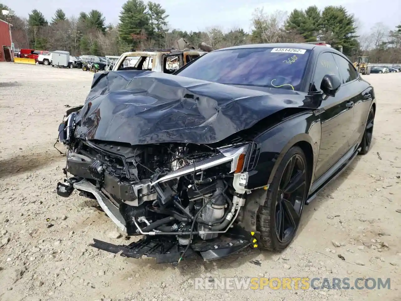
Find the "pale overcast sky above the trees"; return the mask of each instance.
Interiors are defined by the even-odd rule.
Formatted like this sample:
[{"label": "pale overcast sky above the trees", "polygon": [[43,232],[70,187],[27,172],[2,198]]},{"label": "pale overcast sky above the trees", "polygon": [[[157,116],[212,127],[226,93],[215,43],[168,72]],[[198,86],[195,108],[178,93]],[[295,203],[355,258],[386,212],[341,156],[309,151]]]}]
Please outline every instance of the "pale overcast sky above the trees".
[{"label": "pale overcast sky above the trees", "polygon": [[[0,0],[0,2],[15,10],[17,15],[24,17],[28,17],[28,13],[36,8],[49,20],[57,8],[63,9],[67,16],[97,9],[105,15],[106,23],[116,24],[125,0],[78,2]],[[210,26],[219,26],[223,29],[241,27],[245,31],[250,31],[252,12],[260,7],[263,7],[265,12],[282,10],[290,13],[294,8],[304,9],[310,5],[317,5],[320,9],[328,5],[342,5],[358,18],[362,32],[369,31],[375,22],[383,22],[390,29],[401,22],[400,0],[153,0],[153,2],[162,4],[166,9],[166,13],[170,15],[168,18],[170,27],[186,31],[202,31]]]}]

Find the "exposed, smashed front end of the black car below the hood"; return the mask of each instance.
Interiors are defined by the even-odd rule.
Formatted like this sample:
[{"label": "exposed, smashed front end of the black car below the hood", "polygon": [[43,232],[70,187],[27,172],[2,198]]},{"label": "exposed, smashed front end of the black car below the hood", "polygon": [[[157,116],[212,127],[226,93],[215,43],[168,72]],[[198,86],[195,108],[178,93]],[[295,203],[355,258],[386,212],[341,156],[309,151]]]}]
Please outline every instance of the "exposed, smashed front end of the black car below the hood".
[{"label": "exposed, smashed front end of the black car below the hood", "polygon": [[141,245],[131,248],[99,240],[93,246],[115,253],[123,250],[124,256],[136,258],[176,254],[159,258],[163,262],[188,255],[190,245],[192,251],[204,252],[205,260],[221,257],[217,252],[221,246],[226,246],[223,253],[231,254],[250,245],[238,232],[236,238],[241,239],[222,238],[230,235],[243,215],[249,193],[246,167],[255,160],[249,155],[250,143],[132,146],[86,140],[75,132],[76,116],[72,112],[59,127],[59,141],[67,146],[67,165],[66,179],[58,184],[57,193],[68,197],[77,189],[97,199],[127,235],[145,235]]}]

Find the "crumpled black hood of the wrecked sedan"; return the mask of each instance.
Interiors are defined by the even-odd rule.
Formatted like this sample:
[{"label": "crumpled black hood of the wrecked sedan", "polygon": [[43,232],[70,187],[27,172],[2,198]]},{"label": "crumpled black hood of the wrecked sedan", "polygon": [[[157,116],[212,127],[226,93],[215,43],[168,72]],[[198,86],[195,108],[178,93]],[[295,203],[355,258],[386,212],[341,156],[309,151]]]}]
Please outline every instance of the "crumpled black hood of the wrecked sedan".
[{"label": "crumpled black hood of the wrecked sedan", "polygon": [[132,145],[209,144],[288,107],[307,108],[305,94],[248,89],[152,71],[95,73],[76,118],[77,136]]}]

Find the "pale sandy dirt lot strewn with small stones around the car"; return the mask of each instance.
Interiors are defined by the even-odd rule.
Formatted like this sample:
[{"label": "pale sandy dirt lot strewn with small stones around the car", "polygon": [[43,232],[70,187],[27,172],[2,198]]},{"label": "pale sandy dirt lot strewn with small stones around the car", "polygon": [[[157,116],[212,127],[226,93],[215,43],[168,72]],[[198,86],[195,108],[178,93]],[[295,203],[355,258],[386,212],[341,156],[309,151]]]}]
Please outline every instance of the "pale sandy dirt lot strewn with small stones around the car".
[{"label": "pale sandy dirt lot strewn with small stones around the car", "polygon": [[[55,193],[65,163],[53,148],[57,127],[66,104],[85,100],[92,74],[0,63],[0,300],[401,300],[401,73],[366,78],[378,104],[371,151],[306,207],[290,248],[174,267],[88,246],[128,241],[108,238],[116,227],[84,197]],[[235,276],[348,277],[351,285],[381,277],[391,289],[194,290],[194,277]]]}]

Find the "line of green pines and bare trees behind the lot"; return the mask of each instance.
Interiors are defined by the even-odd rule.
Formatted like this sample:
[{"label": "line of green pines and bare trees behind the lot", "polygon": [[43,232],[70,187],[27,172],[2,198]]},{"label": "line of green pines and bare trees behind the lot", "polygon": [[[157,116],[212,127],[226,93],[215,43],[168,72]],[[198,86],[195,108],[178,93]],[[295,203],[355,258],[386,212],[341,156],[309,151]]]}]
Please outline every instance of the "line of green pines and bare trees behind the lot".
[{"label": "line of green pines and bare trees behind the lot", "polygon": [[[10,9],[0,3],[2,9]],[[343,6],[326,6],[319,10],[267,13],[256,9],[252,16],[253,29],[229,31],[216,26],[204,31],[182,31],[168,27],[168,14],[158,3],[128,0],[122,6],[118,24],[106,24],[99,10],[81,12],[67,18],[56,10],[47,20],[34,9],[28,18],[12,16],[12,39],[15,48],[66,50],[71,55],[119,55],[129,49],[172,48],[183,37],[195,48],[202,42],[213,49],[249,43],[302,43],[326,41],[332,47],[342,46],[344,54],[354,59],[369,55],[372,63],[401,61],[401,24],[390,30],[382,23],[375,24],[368,35],[356,35],[358,20]]]}]

